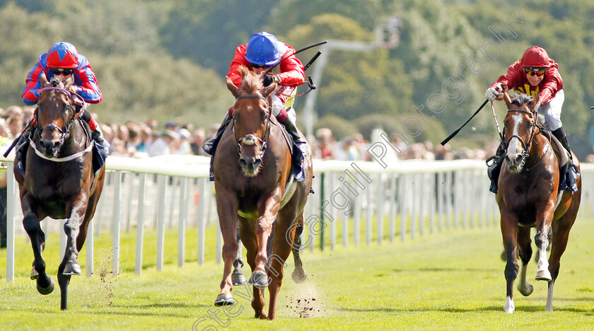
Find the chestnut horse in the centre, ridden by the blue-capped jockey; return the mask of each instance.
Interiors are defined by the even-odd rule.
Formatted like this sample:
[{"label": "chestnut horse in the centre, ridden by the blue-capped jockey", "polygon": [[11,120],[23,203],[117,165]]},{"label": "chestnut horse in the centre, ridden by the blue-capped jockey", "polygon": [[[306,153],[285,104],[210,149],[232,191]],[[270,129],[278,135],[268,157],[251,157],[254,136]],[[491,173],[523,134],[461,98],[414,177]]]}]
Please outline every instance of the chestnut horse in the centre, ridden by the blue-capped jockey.
[{"label": "chestnut horse in the centre, ridden by the blue-capped jockey", "polygon": [[[293,279],[301,282],[306,277],[298,248],[303,207],[313,178],[311,153],[304,156],[305,180],[293,181],[291,149],[270,107],[269,95],[276,83],[264,87],[263,76],[245,67],[240,67],[240,73],[243,76],[240,88],[226,79],[227,88],[235,97],[233,121],[221,137],[213,163],[225,263],[215,306],[235,303],[231,295],[231,269],[238,251],[235,227],[239,219],[240,237],[252,269],[248,283],[253,285],[255,318],[273,320],[284,261],[291,249],[296,267]],[[287,186],[288,182],[291,185]],[[292,196],[284,195],[292,191]],[[266,287],[270,295],[268,313],[264,311]]]}]

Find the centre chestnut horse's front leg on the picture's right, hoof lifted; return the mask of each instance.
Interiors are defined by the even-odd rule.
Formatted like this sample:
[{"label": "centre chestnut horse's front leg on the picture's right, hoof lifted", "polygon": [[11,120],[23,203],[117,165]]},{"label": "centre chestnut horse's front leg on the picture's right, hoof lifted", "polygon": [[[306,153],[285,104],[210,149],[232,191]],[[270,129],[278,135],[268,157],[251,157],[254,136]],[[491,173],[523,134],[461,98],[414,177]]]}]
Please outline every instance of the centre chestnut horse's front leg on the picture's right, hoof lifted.
[{"label": "centre chestnut horse's front leg on the picture's right, hoof lifted", "polygon": [[267,276],[267,243],[276,215],[279,213],[282,191],[276,187],[272,193],[258,202],[258,211],[260,217],[255,224],[258,250],[255,258],[256,269],[250,276],[250,284],[264,289],[270,284]]}]

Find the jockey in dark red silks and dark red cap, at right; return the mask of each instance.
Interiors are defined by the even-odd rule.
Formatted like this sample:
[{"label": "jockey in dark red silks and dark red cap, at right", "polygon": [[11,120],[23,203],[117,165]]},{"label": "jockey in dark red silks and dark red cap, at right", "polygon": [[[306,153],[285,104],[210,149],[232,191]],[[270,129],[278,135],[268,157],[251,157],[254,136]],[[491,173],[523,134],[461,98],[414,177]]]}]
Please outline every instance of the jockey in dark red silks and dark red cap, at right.
[{"label": "jockey in dark red silks and dark red cap, at right", "polygon": [[[549,129],[554,137],[556,137],[561,145],[569,152],[571,157],[571,150],[563,124],[561,123],[561,107],[565,100],[565,93],[563,91],[563,80],[559,74],[559,65],[553,59],[549,58],[549,54],[541,47],[533,46],[525,50],[522,58],[509,66],[507,74],[499,77],[499,79],[487,88],[485,98],[493,100],[501,100],[503,97],[502,85],[508,86],[509,89],[516,91],[516,93],[525,93],[536,97],[540,108],[539,112],[544,114],[544,127]],[[489,178],[491,178],[491,192],[497,190],[497,180],[499,179],[499,170],[503,157],[501,146],[497,150],[495,161],[489,166]],[[568,168],[575,168],[569,165]],[[569,169],[568,169],[569,170]],[[563,175],[563,174],[561,174]],[[566,185],[573,187],[577,177],[568,176]],[[575,187],[577,190],[577,187]]]}]

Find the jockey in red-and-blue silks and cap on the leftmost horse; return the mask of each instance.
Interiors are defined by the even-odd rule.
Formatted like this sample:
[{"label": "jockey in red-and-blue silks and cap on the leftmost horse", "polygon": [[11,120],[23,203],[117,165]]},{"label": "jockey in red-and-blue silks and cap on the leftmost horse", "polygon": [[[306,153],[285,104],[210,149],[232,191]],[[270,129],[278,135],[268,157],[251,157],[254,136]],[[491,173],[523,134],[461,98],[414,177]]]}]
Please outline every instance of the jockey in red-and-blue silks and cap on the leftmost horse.
[{"label": "jockey in red-and-blue silks and cap on the leftmost horse", "polygon": [[[74,83],[70,86],[69,92],[80,95],[85,103],[99,103],[103,98],[88,59],[82,54],[78,54],[74,45],[69,42],[57,42],[50,47],[47,53],[40,55],[39,61],[27,75],[26,85],[21,95],[25,105],[35,105],[39,100],[42,89],[39,81],[41,73],[45,74],[47,81],[50,81],[54,76],[59,76],[62,81],[74,76]],[[85,109],[81,118],[88,123],[92,130],[93,140],[100,145],[99,148],[103,147],[105,149],[106,155],[110,150],[110,144],[103,139],[100,127],[91,116],[91,113]],[[20,147],[25,145],[23,143],[28,140],[31,129],[32,126],[30,125],[21,135],[21,139],[17,144],[17,155]]]}]

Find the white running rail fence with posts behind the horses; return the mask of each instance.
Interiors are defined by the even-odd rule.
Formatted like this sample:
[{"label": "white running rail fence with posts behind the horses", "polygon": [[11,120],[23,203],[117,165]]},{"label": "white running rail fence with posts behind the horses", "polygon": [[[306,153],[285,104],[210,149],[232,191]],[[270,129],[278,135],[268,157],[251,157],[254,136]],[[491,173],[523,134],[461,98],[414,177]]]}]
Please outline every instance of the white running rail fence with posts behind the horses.
[{"label": "white running rail fence with posts behind the horses", "polygon": [[[13,180],[12,157],[8,163],[8,240],[6,279],[14,278],[14,237],[26,236],[18,186]],[[102,231],[112,235],[112,270],[120,264],[120,231],[136,229],[135,272],[141,274],[144,230],[156,229],[156,269],[163,268],[165,228],[178,229],[177,265],[182,267],[186,226],[198,228],[197,262],[204,263],[206,226],[217,221],[214,188],[208,180],[209,159],[200,156],[167,158],[107,158],[103,194],[88,229],[86,274],[93,274],[93,241]],[[483,161],[398,161],[383,168],[375,162],[314,161],[315,179],[305,206],[302,243],[334,249],[407,240],[445,228],[492,226],[499,221],[494,194],[489,192]],[[582,165],[581,216],[592,216],[594,165]],[[62,222],[44,221],[43,228],[60,231]],[[340,226],[340,228],[338,228]],[[218,228],[218,226],[217,226]],[[375,229],[375,230],[374,230]],[[338,237],[339,231],[342,233]],[[349,238],[352,239],[350,242]],[[315,244],[318,243],[318,244]],[[219,232],[216,252],[221,251]],[[217,262],[221,255],[216,254]]]}]

